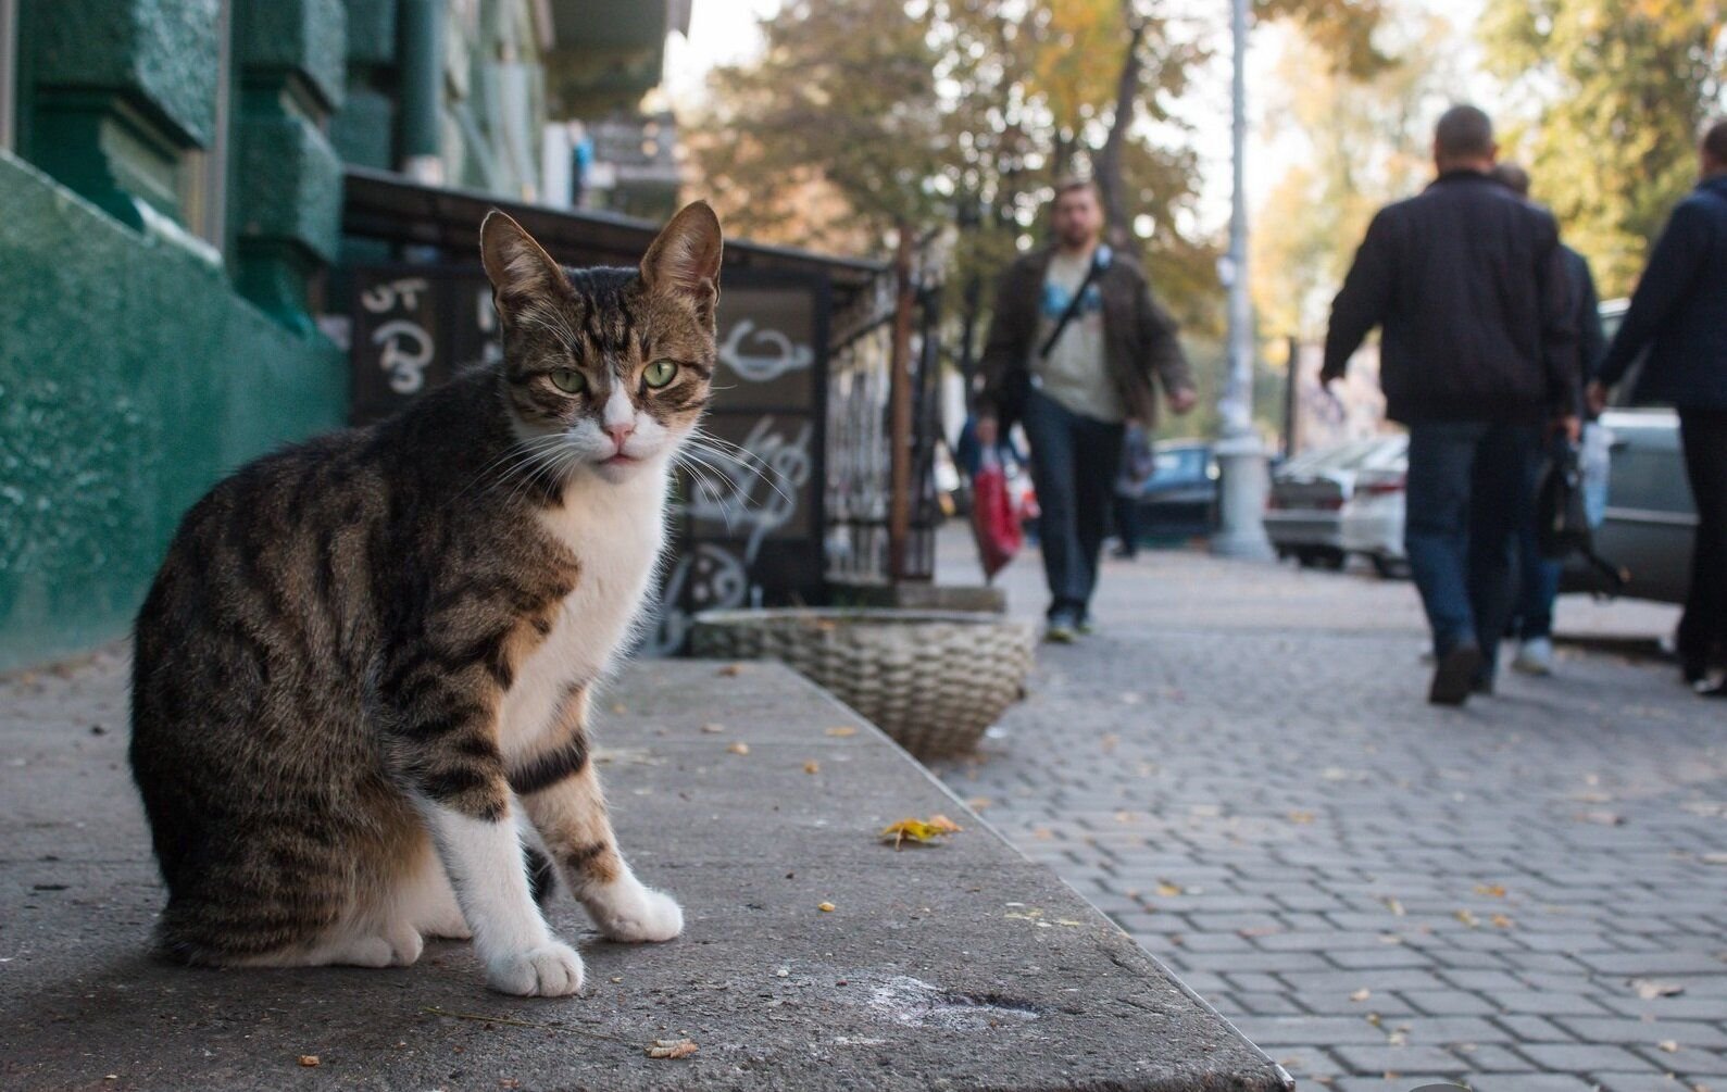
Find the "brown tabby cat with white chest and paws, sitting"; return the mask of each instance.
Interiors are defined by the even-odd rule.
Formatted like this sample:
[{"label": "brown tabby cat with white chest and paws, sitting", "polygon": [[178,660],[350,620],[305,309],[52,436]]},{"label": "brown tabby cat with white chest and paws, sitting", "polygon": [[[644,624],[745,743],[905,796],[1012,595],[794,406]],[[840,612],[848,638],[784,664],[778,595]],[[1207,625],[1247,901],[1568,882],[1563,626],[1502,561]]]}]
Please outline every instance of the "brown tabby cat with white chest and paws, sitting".
[{"label": "brown tabby cat with white chest and paws, sitting", "polygon": [[708,401],[720,223],[696,202],[639,270],[565,270],[492,211],[480,254],[503,359],[219,482],[138,613],[171,959],[408,966],[471,936],[494,990],[575,994],[523,841],[611,940],[682,931],[618,852],[587,710]]}]

